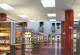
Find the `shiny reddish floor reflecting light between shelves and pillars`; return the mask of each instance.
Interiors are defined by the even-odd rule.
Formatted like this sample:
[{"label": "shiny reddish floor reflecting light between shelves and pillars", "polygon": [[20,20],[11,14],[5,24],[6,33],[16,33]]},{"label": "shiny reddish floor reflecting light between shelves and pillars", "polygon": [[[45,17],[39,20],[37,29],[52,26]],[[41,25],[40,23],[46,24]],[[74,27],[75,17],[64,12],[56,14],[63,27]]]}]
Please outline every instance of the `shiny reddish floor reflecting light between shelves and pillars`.
[{"label": "shiny reddish floor reflecting light between shelves and pillars", "polygon": [[[21,55],[20,52],[16,52],[16,55]],[[64,49],[61,49],[60,44],[53,44],[48,45],[40,48],[37,51],[34,51],[33,53],[25,52],[25,55],[66,55],[64,53]]]}]

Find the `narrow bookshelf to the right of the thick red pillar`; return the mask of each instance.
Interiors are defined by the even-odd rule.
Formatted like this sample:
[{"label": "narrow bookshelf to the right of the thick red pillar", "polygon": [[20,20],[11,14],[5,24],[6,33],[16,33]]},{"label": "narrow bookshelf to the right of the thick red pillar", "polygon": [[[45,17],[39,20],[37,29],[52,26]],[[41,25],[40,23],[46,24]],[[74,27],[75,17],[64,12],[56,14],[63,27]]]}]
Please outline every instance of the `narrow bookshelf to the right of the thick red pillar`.
[{"label": "narrow bookshelf to the right of the thick red pillar", "polygon": [[71,37],[71,55],[77,54],[77,27],[74,26],[71,30],[72,37]]}]

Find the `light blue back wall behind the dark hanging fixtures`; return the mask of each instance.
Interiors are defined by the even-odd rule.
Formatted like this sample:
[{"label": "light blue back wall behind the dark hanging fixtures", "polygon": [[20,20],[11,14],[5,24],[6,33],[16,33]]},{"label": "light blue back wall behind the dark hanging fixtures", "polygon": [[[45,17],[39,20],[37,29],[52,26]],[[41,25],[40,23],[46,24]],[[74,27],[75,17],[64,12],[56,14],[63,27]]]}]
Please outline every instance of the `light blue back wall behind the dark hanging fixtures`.
[{"label": "light blue back wall behind the dark hanging fixtures", "polygon": [[[61,23],[60,21],[55,21],[55,22],[44,22],[44,25],[43,25],[43,33],[44,34],[52,34],[52,35],[56,35],[56,34],[61,34],[61,28],[60,29],[57,29],[56,28],[56,25],[55,25],[55,33],[52,33],[51,31],[51,27],[52,27],[52,23]],[[27,26],[28,29],[33,29],[37,32],[39,32],[39,22],[28,22],[28,26]]]}]

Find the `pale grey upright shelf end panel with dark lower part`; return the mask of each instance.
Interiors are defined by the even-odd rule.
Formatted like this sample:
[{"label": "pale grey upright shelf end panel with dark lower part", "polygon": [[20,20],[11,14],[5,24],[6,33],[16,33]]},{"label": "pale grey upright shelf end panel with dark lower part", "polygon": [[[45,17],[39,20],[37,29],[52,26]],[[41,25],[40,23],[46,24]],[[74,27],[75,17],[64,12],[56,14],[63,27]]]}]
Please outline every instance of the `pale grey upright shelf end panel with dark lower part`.
[{"label": "pale grey upright shelf end panel with dark lower part", "polygon": [[15,55],[15,36],[16,36],[16,25],[15,22],[11,22],[11,30],[10,30],[10,55]]}]

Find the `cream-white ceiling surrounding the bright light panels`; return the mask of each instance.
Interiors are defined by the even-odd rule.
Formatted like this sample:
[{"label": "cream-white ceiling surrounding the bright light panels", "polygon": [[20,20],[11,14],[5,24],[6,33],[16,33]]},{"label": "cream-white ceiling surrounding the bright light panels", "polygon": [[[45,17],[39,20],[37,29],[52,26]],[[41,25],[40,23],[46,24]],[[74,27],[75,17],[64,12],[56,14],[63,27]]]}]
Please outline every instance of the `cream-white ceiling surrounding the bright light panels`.
[{"label": "cream-white ceiling surrounding the bright light panels", "polygon": [[[0,13],[6,13],[8,18],[16,21],[35,20],[35,21],[50,21],[50,19],[56,19],[57,21],[64,21],[65,10],[73,9],[74,18],[79,19],[80,13],[80,0],[56,0],[56,7],[44,8],[41,4],[41,0],[0,0],[0,4],[7,3],[14,10],[4,10],[0,8]],[[48,13],[56,13],[56,17],[50,18]],[[29,18],[21,18],[18,15],[27,15]],[[9,20],[9,19],[8,19]]]}]

